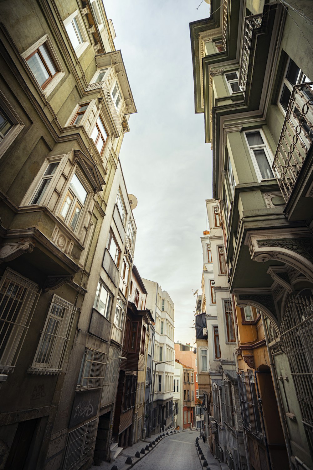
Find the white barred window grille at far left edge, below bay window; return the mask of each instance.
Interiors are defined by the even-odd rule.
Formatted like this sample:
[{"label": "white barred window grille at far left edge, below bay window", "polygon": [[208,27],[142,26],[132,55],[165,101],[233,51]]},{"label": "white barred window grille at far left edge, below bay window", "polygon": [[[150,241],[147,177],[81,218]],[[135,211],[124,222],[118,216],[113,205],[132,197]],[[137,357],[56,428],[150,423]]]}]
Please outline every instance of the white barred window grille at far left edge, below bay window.
[{"label": "white barred window grille at far left edge, below bay window", "polygon": [[15,368],[38,298],[38,285],[6,269],[0,281],[1,374]]}]

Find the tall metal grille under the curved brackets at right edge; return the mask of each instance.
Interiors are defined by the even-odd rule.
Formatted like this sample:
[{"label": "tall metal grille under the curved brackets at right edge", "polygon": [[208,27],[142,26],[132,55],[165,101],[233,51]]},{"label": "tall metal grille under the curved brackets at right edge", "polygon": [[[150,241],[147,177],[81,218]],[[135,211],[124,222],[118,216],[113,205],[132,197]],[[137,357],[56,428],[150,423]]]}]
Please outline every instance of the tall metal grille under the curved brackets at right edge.
[{"label": "tall metal grille under the curved brackets at right edge", "polygon": [[[281,333],[286,355],[290,362],[303,423],[313,433],[313,297],[311,291],[305,295],[290,295],[284,307]],[[313,436],[311,437],[313,439]]]}]

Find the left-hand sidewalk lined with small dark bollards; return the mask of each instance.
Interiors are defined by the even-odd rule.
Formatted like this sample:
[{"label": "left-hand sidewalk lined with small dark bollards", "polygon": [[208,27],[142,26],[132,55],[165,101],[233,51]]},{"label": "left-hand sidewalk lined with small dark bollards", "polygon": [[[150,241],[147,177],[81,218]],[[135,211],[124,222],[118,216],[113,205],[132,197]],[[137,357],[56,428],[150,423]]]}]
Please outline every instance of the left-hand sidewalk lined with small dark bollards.
[{"label": "left-hand sidewalk lined with small dark bollards", "polygon": [[[162,433],[153,434],[150,438],[147,437],[144,441],[140,440],[131,447],[123,449],[122,453],[116,457],[114,462],[101,462],[99,466],[92,465],[91,468],[92,470],[111,470],[112,467],[116,466],[118,470],[129,470],[135,463],[139,462],[139,460],[157,446],[161,440],[166,439],[172,434],[178,434],[179,432],[182,431],[167,430]],[[128,461],[127,463],[126,460]]]}]

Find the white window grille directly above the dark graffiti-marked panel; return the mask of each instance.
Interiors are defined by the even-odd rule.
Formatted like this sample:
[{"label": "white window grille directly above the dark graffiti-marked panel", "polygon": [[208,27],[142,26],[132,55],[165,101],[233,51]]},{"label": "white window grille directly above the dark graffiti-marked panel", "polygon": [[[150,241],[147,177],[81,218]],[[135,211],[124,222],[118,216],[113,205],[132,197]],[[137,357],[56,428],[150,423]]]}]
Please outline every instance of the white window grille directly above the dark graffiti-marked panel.
[{"label": "white window grille directly above the dark graffiti-marked panel", "polygon": [[95,349],[87,349],[83,366],[83,374],[80,384],[78,385],[80,390],[102,387],[106,364],[107,354],[105,352],[96,351]]}]

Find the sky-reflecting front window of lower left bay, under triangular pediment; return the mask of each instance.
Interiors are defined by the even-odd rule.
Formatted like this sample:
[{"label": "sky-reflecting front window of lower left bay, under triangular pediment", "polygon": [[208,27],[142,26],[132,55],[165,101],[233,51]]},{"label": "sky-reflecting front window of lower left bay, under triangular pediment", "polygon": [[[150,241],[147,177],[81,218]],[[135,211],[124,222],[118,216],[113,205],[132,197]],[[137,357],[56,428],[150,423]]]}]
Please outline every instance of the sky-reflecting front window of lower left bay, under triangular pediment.
[{"label": "sky-reflecting front window of lower left bay, under triangular pediment", "polygon": [[69,189],[60,212],[61,218],[73,230],[77,227],[78,220],[84,209],[86,198],[87,191],[78,179],[76,173],[74,173],[69,183]]}]

